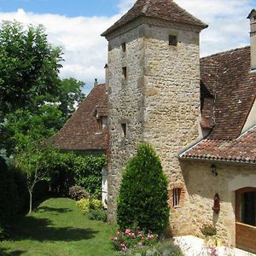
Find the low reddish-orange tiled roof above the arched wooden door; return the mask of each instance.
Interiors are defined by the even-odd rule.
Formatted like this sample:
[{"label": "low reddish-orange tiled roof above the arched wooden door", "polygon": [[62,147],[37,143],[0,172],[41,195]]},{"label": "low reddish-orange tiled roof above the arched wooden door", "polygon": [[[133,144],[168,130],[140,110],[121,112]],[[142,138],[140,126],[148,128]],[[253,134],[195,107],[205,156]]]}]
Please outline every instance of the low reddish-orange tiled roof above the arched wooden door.
[{"label": "low reddish-orange tiled roof above the arched wooden door", "polygon": [[232,140],[205,139],[184,152],[181,157],[256,164],[256,127]]}]

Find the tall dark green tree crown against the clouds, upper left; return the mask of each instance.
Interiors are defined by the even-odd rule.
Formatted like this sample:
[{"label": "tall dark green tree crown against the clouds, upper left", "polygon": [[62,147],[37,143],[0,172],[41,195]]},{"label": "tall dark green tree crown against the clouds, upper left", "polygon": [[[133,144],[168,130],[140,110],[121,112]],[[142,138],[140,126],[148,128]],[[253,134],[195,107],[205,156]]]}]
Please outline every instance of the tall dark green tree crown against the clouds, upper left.
[{"label": "tall dark green tree crown against the clouds, upper left", "polygon": [[61,49],[47,41],[44,26],[3,21],[0,26],[0,120],[33,106],[37,96],[56,95]]}]

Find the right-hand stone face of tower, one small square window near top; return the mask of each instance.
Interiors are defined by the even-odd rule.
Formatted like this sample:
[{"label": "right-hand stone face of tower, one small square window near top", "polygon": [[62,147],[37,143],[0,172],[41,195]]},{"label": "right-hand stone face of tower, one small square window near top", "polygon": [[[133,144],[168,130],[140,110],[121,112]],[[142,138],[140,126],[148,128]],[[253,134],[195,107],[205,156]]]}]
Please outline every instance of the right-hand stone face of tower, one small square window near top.
[{"label": "right-hand stone face of tower, one small square window near top", "polygon": [[[160,154],[169,194],[177,185],[183,189],[183,207],[172,209],[170,224],[172,235],[186,234],[189,201],[177,154],[199,139],[199,35],[170,27],[148,26],[147,30],[144,139]],[[177,35],[177,46],[168,44],[169,35]]]}]

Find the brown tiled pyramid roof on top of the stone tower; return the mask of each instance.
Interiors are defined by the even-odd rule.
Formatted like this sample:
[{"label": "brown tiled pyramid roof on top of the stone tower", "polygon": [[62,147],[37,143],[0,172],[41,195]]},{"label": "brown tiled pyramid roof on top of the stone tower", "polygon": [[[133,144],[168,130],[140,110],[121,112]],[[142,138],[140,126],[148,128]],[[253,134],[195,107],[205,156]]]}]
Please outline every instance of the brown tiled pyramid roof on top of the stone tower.
[{"label": "brown tiled pyramid roof on top of the stone tower", "polygon": [[135,20],[140,16],[200,26],[202,29],[207,27],[207,24],[198,20],[193,15],[190,15],[185,9],[179,7],[177,3],[174,3],[172,0],[137,0],[125,15],[102,33],[102,36],[107,36],[108,33],[113,32],[120,26],[124,26],[131,20]]}]

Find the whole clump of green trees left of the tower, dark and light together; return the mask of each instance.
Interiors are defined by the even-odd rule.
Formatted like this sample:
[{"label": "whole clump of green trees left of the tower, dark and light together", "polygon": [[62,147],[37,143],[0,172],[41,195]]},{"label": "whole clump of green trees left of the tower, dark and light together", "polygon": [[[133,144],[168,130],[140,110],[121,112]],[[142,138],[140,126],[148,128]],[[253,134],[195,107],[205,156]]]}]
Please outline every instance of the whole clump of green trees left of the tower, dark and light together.
[{"label": "whole clump of green trees left of the tower, dark and light together", "polygon": [[17,154],[59,131],[83,99],[83,82],[58,78],[61,49],[43,26],[0,26],[0,148]]}]

